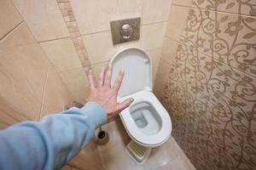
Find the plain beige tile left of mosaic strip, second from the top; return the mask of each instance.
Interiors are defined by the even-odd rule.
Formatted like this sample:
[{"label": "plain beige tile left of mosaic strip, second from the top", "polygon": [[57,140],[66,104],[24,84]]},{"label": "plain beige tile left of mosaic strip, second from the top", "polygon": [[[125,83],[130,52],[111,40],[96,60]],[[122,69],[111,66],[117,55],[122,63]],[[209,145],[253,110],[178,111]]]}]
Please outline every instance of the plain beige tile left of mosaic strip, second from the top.
[{"label": "plain beige tile left of mosaic strip, second from the top", "polygon": [[40,42],[40,45],[55,66],[56,71],[68,71],[82,67],[70,38]]}]

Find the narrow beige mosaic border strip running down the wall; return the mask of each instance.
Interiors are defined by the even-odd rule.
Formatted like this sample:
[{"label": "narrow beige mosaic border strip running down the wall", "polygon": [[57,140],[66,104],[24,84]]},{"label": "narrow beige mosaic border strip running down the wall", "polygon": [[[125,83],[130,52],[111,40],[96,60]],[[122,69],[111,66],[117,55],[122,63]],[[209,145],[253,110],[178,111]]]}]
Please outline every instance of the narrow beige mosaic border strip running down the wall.
[{"label": "narrow beige mosaic border strip running down the wall", "polygon": [[91,69],[90,67],[90,60],[86,53],[84,42],[79,31],[78,23],[75,19],[73,14],[73,8],[69,0],[56,0],[61,10],[61,14],[63,16],[63,20],[67,26],[67,30],[69,31],[70,37],[72,38],[73,45],[77,54],[79,55],[79,59],[81,64],[84,68],[85,73],[88,73],[88,70]]}]

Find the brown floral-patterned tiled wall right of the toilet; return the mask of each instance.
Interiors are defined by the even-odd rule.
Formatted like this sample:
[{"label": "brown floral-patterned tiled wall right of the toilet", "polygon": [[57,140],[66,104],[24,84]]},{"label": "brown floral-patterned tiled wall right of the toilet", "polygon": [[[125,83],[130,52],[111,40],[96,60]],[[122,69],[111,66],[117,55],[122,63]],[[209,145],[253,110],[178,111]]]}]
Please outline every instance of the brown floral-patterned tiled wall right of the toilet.
[{"label": "brown floral-patterned tiled wall right of the toilet", "polygon": [[160,100],[197,169],[256,167],[255,5],[192,1],[181,36],[166,37],[178,45]]}]

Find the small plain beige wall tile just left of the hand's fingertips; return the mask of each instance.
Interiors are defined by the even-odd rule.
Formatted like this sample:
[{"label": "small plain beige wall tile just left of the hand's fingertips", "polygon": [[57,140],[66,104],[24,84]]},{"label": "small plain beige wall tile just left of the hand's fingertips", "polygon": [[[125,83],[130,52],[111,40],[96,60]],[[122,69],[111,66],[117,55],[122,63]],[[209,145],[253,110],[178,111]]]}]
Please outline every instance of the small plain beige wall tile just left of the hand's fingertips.
[{"label": "small plain beige wall tile just left of the hand's fingertips", "polygon": [[71,93],[88,87],[88,81],[83,68],[60,72],[60,76]]}]

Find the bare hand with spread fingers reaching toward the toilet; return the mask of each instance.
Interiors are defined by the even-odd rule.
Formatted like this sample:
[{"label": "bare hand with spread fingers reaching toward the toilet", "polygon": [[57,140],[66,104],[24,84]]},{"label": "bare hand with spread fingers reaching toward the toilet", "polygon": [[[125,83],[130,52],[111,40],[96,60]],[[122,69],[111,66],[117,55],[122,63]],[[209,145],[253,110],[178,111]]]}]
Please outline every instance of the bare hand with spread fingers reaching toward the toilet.
[{"label": "bare hand with spread fingers reaching toward the toilet", "polygon": [[105,67],[102,67],[100,79],[98,82],[96,82],[96,79],[91,71],[89,71],[88,74],[90,93],[87,100],[90,102],[96,102],[97,104],[101,105],[102,108],[107,112],[108,119],[118,115],[119,112],[123,111],[126,107],[131,105],[131,102],[133,101],[132,98],[129,98],[125,99],[125,101],[122,103],[117,102],[117,94],[123,81],[124,71],[119,72],[119,76],[114,82],[113,87],[111,87],[110,84],[111,77],[111,65],[108,65],[107,71]]}]

